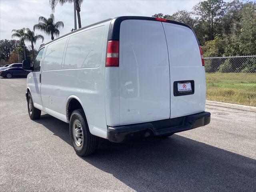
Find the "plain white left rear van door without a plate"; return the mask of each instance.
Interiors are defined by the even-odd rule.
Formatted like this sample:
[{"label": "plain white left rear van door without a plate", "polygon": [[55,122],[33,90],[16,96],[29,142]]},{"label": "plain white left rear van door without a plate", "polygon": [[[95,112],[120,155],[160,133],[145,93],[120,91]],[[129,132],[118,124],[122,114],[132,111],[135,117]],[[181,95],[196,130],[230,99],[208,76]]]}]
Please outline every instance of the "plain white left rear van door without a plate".
[{"label": "plain white left rear van door without a plate", "polygon": [[120,124],[169,118],[170,72],[162,23],[124,20],[119,43]]}]

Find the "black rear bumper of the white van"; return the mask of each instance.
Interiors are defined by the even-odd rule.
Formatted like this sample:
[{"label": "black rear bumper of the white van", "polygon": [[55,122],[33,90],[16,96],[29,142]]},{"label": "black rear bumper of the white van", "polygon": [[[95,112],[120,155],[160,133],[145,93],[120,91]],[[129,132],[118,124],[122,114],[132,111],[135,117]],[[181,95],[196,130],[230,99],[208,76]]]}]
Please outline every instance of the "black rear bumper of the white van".
[{"label": "black rear bumper of the white van", "polygon": [[108,140],[120,143],[126,140],[146,138],[149,136],[173,134],[205,126],[210,123],[210,119],[210,112],[201,112],[146,123],[108,126]]}]

